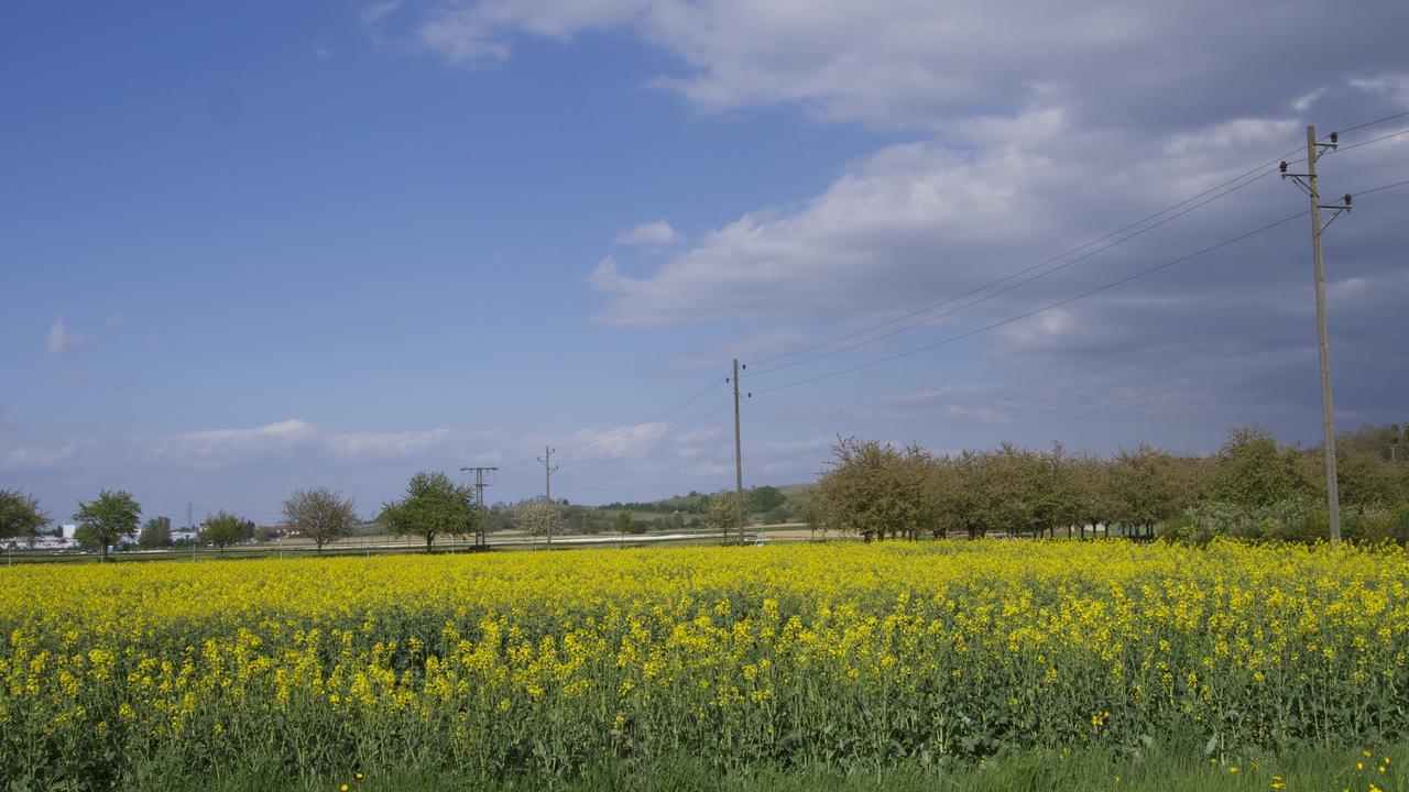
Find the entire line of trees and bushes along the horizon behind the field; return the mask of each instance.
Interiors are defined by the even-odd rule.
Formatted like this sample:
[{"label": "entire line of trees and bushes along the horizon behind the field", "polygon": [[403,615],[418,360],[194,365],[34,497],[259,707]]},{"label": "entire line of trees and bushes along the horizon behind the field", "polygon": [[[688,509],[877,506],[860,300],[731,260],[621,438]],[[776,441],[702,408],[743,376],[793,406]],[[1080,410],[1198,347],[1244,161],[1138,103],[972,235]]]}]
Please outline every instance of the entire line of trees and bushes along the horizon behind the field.
[{"label": "entire line of trees and bushes along the horizon behind the field", "polygon": [[[1337,471],[1344,537],[1409,543],[1409,426],[1367,426],[1343,434]],[[1084,538],[1100,530],[1110,536],[1112,526],[1119,526],[1120,536],[1143,538],[1310,541],[1327,533],[1324,499],[1320,450],[1282,444],[1254,426],[1230,430],[1223,447],[1206,457],[1179,457],[1146,443],[1107,457],[1068,454],[1060,444],[1034,451],[1010,443],[934,455],[917,445],[843,437],[806,496],[793,500],[772,486],[752,488],[745,493],[745,512],[774,523],[800,513],[823,537],[840,533],[868,541],[995,533],[1055,537],[1058,531]],[[633,512],[659,516],[638,519]],[[352,499],[327,488],[296,490],[282,516],[283,533],[304,537],[320,551],[362,524]],[[173,541],[168,517],[141,524],[141,505],[123,490],[101,490],[79,502],[73,519],[77,543],[100,548],[104,559],[108,548],[124,541],[135,540],[141,548],[185,544]],[[0,541],[24,540],[34,547],[51,521],[32,495],[0,490]],[[421,538],[427,552],[437,538],[464,540],[506,528],[531,536],[689,528],[727,537],[737,526],[737,500],[721,490],[600,507],[537,497],[483,509],[469,485],[421,471],[410,478],[402,499],[382,505],[375,523],[390,534]],[[186,541],[224,551],[275,533],[220,510]]]}]

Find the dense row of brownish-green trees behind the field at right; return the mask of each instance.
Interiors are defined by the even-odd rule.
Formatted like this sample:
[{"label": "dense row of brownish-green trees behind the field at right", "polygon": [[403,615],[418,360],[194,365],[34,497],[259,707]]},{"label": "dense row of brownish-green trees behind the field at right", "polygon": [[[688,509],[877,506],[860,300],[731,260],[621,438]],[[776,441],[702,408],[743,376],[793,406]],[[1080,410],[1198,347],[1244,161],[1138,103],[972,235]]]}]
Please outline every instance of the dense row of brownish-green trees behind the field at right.
[{"label": "dense row of brownish-green trees behind the field at right", "polygon": [[[1363,430],[1337,448],[1347,538],[1409,540],[1409,455],[1386,459]],[[1398,435],[1398,433],[1395,433]],[[919,447],[840,438],[809,500],[814,530],[864,537],[964,534],[1124,536],[1208,540],[1216,534],[1305,540],[1326,533],[1319,452],[1258,427],[1234,428],[1210,457],[1144,443],[1113,457],[1005,443],[936,457]]]}]

